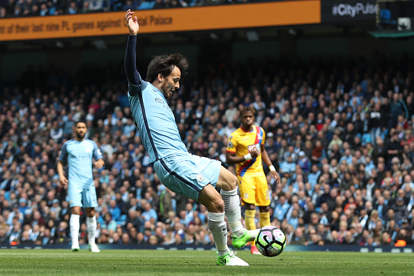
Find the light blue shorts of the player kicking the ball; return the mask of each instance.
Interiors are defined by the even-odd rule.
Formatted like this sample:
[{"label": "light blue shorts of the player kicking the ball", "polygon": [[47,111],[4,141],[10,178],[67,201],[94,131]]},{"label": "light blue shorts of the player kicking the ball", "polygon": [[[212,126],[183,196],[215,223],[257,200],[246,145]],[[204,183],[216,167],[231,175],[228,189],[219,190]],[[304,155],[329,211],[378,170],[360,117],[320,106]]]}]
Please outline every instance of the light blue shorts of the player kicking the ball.
[{"label": "light blue shorts of the player kicking the ball", "polygon": [[154,162],[155,173],[169,190],[198,200],[209,183],[215,187],[222,163],[198,155],[171,155]]}]

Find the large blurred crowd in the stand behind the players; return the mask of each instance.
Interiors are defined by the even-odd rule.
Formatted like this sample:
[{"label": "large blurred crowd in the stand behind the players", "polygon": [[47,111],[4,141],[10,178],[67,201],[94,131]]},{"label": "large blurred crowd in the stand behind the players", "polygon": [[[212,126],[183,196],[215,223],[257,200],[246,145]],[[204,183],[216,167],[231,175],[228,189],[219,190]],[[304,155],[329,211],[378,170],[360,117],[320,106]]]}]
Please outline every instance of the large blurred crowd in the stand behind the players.
[{"label": "large blurred crowd in the stand behind the players", "polygon": [[[412,245],[413,64],[406,56],[372,61],[211,62],[171,109],[188,151],[233,172],[227,139],[240,126],[238,109],[256,109],[282,176],[274,183],[265,168],[271,220],[288,244]],[[148,164],[122,68],[29,67],[0,87],[0,244],[70,243],[56,159],[86,118],[105,158],[95,171],[97,243],[213,245],[206,208],[166,189]]]}]

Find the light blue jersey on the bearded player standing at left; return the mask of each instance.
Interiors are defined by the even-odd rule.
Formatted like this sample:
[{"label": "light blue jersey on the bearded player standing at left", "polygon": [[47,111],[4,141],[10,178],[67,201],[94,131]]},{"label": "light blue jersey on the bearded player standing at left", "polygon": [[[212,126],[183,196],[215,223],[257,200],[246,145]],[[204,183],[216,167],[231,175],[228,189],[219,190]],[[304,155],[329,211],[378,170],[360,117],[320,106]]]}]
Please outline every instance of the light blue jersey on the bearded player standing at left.
[{"label": "light blue jersey on the bearded player standing at left", "polygon": [[102,159],[102,153],[95,141],[70,139],[63,144],[59,160],[62,162],[68,161],[69,185],[84,188],[93,185],[92,158],[95,158],[95,160]]}]

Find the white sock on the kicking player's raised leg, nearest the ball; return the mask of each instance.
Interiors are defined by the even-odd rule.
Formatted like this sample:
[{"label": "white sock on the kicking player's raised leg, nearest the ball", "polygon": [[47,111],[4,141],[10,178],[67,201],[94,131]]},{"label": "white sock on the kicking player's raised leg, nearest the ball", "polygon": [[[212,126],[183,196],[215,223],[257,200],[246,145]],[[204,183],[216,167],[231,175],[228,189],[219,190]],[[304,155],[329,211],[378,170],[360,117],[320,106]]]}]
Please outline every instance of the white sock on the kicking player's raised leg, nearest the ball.
[{"label": "white sock on the kicking player's raised leg, nearest the ball", "polygon": [[237,189],[232,191],[220,191],[224,201],[224,212],[226,213],[227,221],[233,231],[233,236],[243,236],[246,229],[241,224],[241,213],[240,213],[240,197],[238,197]]}]

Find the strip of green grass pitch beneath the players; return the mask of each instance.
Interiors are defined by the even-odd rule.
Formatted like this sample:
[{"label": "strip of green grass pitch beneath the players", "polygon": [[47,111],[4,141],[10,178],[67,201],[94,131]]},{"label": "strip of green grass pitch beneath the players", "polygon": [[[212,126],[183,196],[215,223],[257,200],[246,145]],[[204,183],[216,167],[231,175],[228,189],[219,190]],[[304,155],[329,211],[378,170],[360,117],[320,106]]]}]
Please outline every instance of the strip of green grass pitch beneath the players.
[{"label": "strip of green grass pitch beneath the players", "polygon": [[0,275],[414,275],[413,254],[238,252],[249,267],[215,265],[215,252],[168,250],[0,250]]}]

